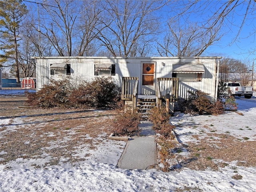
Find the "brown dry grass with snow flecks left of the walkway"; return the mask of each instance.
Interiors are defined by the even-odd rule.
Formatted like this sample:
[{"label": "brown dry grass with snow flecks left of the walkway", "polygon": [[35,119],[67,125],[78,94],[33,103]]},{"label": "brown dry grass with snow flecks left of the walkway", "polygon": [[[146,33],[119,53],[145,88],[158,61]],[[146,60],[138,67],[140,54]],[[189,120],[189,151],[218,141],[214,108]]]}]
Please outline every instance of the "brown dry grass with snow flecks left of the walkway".
[{"label": "brown dry grass with snow flecks left of the walkway", "polygon": [[4,152],[0,156],[0,164],[18,158],[46,156],[50,162],[44,166],[57,165],[60,159],[71,163],[84,160],[74,155],[74,151],[83,145],[97,149],[117,114],[107,110],[19,108],[26,105],[25,100],[26,97],[21,96],[0,97],[0,119],[10,119],[0,128],[0,152]]}]

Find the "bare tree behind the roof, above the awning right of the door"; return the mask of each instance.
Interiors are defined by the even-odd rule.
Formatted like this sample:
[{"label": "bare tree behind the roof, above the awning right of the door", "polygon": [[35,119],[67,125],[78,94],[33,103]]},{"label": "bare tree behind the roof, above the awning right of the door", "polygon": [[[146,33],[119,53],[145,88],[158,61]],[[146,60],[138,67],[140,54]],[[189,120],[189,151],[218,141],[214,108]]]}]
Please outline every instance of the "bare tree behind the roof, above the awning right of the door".
[{"label": "bare tree behind the roof, above the awning right of the door", "polygon": [[[246,20],[254,18],[256,10],[255,1],[246,0],[176,1],[169,6],[172,11],[168,31],[157,46],[161,56],[200,56],[224,34],[236,28],[236,36],[230,41],[232,44],[240,35]],[[238,26],[233,24],[235,15],[241,18]],[[252,34],[255,31],[248,32],[248,36]]]}]

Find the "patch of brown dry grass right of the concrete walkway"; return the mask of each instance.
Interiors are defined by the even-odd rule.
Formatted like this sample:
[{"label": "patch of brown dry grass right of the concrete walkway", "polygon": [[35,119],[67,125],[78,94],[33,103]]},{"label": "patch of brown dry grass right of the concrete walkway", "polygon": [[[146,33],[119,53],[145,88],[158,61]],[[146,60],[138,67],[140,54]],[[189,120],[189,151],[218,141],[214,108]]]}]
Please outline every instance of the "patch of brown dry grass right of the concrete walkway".
[{"label": "patch of brown dry grass right of the concrete walkway", "polygon": [[217,171],[221,167],[228,166],[228,163],[224,162],[232,161],[237,161],[237,166],[256,166],[255,141],[240,141],[228,134],[204,134],[206,137],[203,139],[194,136],[198,140],[196,143],[182,144],[182,148],[190,152],[189,157],[179,155],[176,157],[182,167]]}]

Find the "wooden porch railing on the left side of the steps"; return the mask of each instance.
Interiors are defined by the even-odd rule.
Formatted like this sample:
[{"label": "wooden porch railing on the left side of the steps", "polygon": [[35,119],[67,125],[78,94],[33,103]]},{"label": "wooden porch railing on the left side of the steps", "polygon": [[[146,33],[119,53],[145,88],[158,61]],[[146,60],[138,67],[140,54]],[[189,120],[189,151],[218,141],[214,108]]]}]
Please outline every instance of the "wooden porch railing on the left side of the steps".
[{"label": "wooden porch railing on the left side of the steps", "polygon": [[132,101],[133,111],[136,111],[138,101],[138,77],[122,78],[122,100]]}]

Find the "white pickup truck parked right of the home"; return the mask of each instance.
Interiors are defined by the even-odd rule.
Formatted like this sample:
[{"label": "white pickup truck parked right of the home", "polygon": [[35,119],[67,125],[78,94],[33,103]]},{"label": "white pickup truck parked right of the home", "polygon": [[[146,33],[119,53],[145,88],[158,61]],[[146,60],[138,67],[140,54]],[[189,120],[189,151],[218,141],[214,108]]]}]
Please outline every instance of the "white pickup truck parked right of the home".
[{"label": "white pickup truck parked right of the home", "polygon": [[225,87],[229,87],[231,94],[234,96],[242,96],[244,95],[244,98],[250,99],[253,94],[253,87],[249,86],[241,86],[238,82],[226,82],[224,83]]}]

